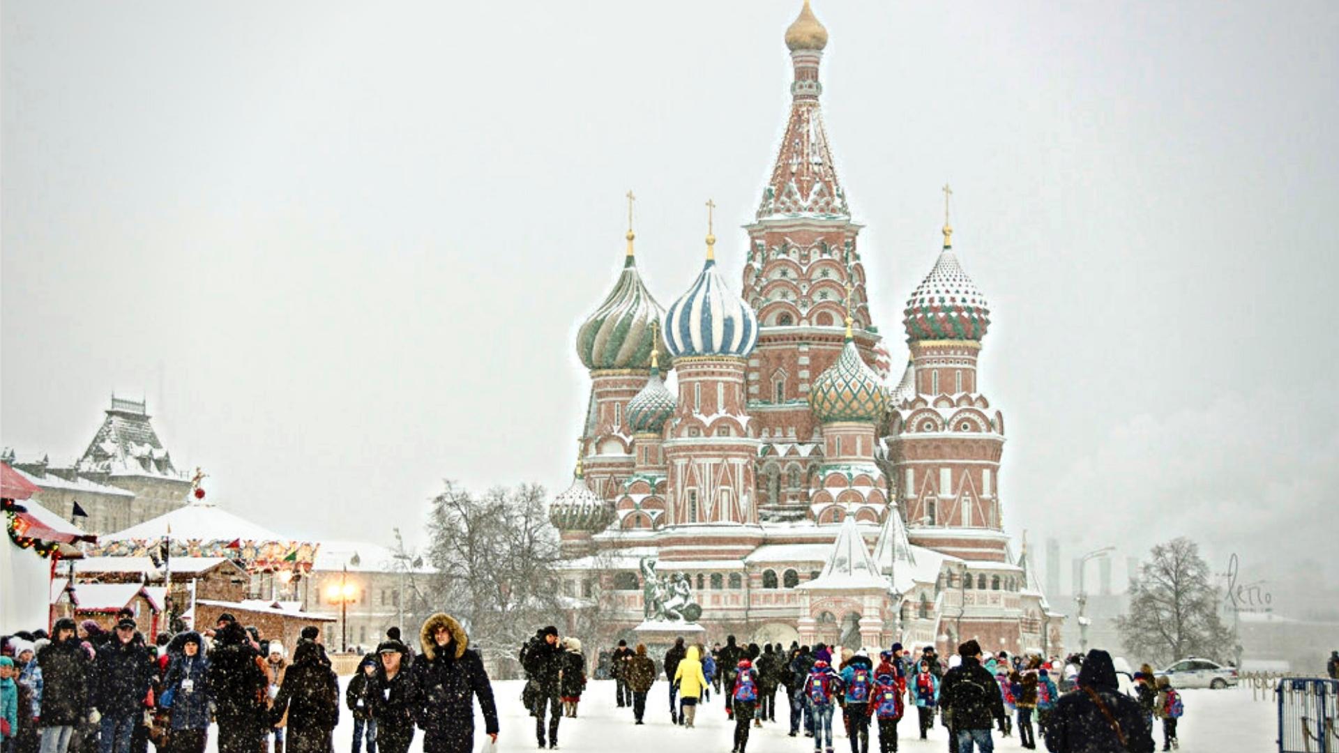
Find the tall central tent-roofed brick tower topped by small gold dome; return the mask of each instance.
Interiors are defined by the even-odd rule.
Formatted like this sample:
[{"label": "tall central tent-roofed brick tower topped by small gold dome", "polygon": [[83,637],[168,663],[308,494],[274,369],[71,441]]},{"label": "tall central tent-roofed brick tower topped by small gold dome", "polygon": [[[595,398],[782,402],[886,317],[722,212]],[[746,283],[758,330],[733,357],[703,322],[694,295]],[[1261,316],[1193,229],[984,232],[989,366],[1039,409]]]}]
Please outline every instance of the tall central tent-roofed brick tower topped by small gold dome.
[{"label": "tall central tent-roofed brick tower topped by small gold dome", "polygon": [[749,413],[758,437],[770,445],[759,502],[781,519],[809,509],[807,488],[823,443],[809,393],[841,355],[848,295],[853,342],[866,363],[874,362],[880,339],[856,251],[861,226],[850,218],[819,110],[818,64],[826,46],[828,29],[806,0],[786,29],[794,67],[786,135],[757,218],[744,228],[743,295],[759,324],[758,348],[749,360]]}]

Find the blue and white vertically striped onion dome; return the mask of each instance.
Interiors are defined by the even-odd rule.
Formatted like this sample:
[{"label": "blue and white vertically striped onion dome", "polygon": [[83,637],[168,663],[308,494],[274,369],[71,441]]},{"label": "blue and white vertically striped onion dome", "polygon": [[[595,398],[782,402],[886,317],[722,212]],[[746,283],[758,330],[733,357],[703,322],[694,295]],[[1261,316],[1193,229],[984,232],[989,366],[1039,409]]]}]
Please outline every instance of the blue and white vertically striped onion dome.
[{"label": "blue and white vertically striped onion dome", "polygon": [[744,300],[726,287],[716,261],[665,314],[665,346],[675,358],[734,355],[743,358],[758,344],[758,318]]}]

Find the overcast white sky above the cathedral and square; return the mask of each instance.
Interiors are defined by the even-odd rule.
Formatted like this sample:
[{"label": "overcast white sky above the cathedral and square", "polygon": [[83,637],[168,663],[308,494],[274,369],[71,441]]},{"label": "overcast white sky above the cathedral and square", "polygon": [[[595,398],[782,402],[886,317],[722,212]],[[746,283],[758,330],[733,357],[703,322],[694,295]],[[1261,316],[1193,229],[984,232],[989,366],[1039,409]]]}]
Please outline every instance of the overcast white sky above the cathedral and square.
[{"label": "overcast white sky above the cathedral and square", "polygon": [[[661,304],[707,197],[738,280],[798,7],[4,3],[0,441],[68,462],[143,394],[216,498],[319,536],[565,486],[623,194]],[[953,185],[1007,527],[1339,575],[1339,4],[814,9],[894,363]]]}]

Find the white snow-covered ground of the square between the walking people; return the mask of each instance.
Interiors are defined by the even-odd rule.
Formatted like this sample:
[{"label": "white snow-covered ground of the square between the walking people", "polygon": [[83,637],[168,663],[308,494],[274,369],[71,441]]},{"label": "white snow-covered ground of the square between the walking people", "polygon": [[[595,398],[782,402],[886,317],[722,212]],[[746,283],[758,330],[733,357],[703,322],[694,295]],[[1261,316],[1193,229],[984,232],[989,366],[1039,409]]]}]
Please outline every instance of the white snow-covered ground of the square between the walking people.
[{"label": "white snow-covered ground of the square between the walking people", "polygon": [[[341,678],[340,685],[348,682]],[[522,682],[495,682],[493,693],[498,703],[502,732],[498,734],[501,753],[534,750],[534,720],[521,706]],[[612,681],[592,681],[581,698],[578,717],[562,720],[558,729],[560,750],[585,753],[595,750],[635,750],[636,753],[724,753],[734,744],[734,725],[726,720],[724,707],[716,695],[698,711],[695,729],[676,728],[670,724],[670,703],[665,698],[668,686],[657,681],[647,699],[647,724],[632,724],[632,709],[619,709],[613,702]],[[779,697],[779,694],[778,694]],[[1178,737],[1184,753],[1267,753],[1276,749],[1276,706],[1271,699],[1252,699],[1249,690],[1185,690],[1185,717],[1181,720]],[[340,694],[343,698],[343,693]],[[806,753],[813,750],[813,740],[787,737],[789,710],[778,710],[777,724],[765,722],[762,729],[754,729],[749,738],[749,750],[754,753]],[[841,734],[840,717],[833,724],[837,740],[837,753],[850,750],[850,742]],[[475,742],[483,740],[483,720],[475,722]],[[945,730],[936,726],[928,741],[917,738],[915,711],[902,718],[897,728],[900,752],[933,752],[948,749]],[[340,713],[340,725],[335,730],[335,750],[349,750],[353,734],[353,721],[347,710]],[[1162,748],[1161,722],[1154,722],[1154,740]],[[209,753],[214,753],[214,734],[210,734]],[[1039,749],[1044,749],[1040,745]],[[478,745],[475,745],[478,748]],[[1018,736],[1000,738],[995,736],[996,750],[1022,750]],[[420,752],[422,733],[415,736],[411,752]],[[877,732],[872,730],[870,750],[878,752]]]}]

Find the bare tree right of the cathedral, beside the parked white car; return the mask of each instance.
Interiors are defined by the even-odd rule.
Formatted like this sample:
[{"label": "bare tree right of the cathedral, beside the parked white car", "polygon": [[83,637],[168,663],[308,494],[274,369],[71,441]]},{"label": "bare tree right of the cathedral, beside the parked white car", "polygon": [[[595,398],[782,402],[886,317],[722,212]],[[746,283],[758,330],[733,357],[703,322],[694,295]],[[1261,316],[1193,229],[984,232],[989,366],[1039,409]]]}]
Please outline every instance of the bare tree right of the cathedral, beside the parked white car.
[{"label": "bare tree right of the cathedral, beside the parked white car", "polygon": [[1153,547],[1153,556],[1130,579],[1129,614],[1117,618],[1131,657],[1157,665],[1185,657],[1231,655],[1232,630],[1218,618],[1218,590],[1200,545],[1180,537]]}]

